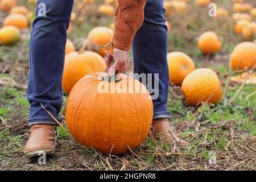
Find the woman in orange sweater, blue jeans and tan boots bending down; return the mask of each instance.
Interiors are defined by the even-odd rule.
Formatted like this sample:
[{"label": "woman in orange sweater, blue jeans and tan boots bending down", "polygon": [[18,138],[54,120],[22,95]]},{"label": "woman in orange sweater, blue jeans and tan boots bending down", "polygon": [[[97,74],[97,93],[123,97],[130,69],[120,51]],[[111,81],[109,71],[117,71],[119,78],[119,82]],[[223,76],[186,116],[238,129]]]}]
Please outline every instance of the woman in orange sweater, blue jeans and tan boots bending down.
[{"label": "woman in orange sweater, blue jeans and tan boots bending down", "polygon": [[[43,110],[41,103],[59,119],[63,101],[61,80],[66,30],[72,6],[73,0],[38,0],[30,43],[27,98],[31,104],[28,119],[31,133],[24,149],[27,156],[35,156],[39,151],[55,152],[57,123]],[[45,14],[40,9],[42,7],[45,7]],[[163,0],[119,0],[115,13],[114,53],[107,52],[105,61],[109,75],[125,71],[133,44],[134,73],[159,73],[159,97],[153,100],[152,135],[158,138],[160,133],[164,142],[171,142],[174,137],[170,134],[167,109],[169,74],[164,13]],[[112,58],[115,63],[110,67]],[[188,144],[177,137],[175,139],[181,145]]]}]

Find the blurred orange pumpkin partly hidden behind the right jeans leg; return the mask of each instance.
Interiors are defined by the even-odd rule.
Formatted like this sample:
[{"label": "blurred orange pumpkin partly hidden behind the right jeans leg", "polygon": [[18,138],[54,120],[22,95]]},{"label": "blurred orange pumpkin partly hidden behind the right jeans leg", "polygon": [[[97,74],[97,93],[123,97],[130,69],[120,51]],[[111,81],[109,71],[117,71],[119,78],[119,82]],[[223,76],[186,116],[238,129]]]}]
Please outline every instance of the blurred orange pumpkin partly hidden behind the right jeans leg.
[{"label": "blurred orange pumpkin partly hidden behind the right jeans leg", "polygon": [[167,55],[170,82],[181,85],[184,78],[195,70],[192,59],[183,52],[171,52]]}]

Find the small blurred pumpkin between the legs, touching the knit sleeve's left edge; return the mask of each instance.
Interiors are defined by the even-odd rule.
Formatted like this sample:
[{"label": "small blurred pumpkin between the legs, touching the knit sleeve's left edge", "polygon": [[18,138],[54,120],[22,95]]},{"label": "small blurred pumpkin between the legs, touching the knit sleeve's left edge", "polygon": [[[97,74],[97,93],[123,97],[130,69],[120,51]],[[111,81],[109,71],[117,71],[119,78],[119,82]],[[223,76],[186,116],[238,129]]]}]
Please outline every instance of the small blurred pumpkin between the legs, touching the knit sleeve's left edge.
[{"label": "small blurred pumpkin between the legs, touching the knit sleeve's left edge", "polygon": [[110,53],[113,53],[112,46],[109,48],[110,50],[100,48],[100,46],[104,47],[106,44],[112,42],[113,34],[114,31],[108,27],[93,28],[87,36],[89,49],[99,53],[101,56],[105,55],[105,51],[110,51]]}]

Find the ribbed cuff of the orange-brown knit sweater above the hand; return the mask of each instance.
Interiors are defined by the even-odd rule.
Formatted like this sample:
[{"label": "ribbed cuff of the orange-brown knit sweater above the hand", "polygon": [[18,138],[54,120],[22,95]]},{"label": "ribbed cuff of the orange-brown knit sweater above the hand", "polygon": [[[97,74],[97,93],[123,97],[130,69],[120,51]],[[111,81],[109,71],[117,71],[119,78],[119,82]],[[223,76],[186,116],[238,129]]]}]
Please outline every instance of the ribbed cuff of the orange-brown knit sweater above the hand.
[{"label": "ribbed cuff of the orange-brown knit sweater above the hand", "polygon": [[135,33],[127,30],[114,30],[113,47],[123,51],[129,51],[133,43]]}]

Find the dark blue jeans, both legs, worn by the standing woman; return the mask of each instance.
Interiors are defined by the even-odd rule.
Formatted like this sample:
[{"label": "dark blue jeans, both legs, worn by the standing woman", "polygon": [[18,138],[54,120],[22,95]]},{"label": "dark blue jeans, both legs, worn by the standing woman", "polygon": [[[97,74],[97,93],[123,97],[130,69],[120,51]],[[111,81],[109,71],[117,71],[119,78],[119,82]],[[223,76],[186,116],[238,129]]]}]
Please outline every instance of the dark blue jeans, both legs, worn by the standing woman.
[{"label": "dark blue jeans, both legs, worn by the standing woman", "polygon": [[[46,16],[42,15],[40,3],[46,5]],[[61,122],[59,119],[63,102],[61,80],[72,7],[73,0],[38,0],[30,42],[28,126],[57,125],[41,104]],[[154,100],[154,119],[170,118],[170,113],[167,111],[169,74],[164,11],[163,0],[147,0],[144,23],[133,42],[134,72],[159,73],[159,97]]]}]

